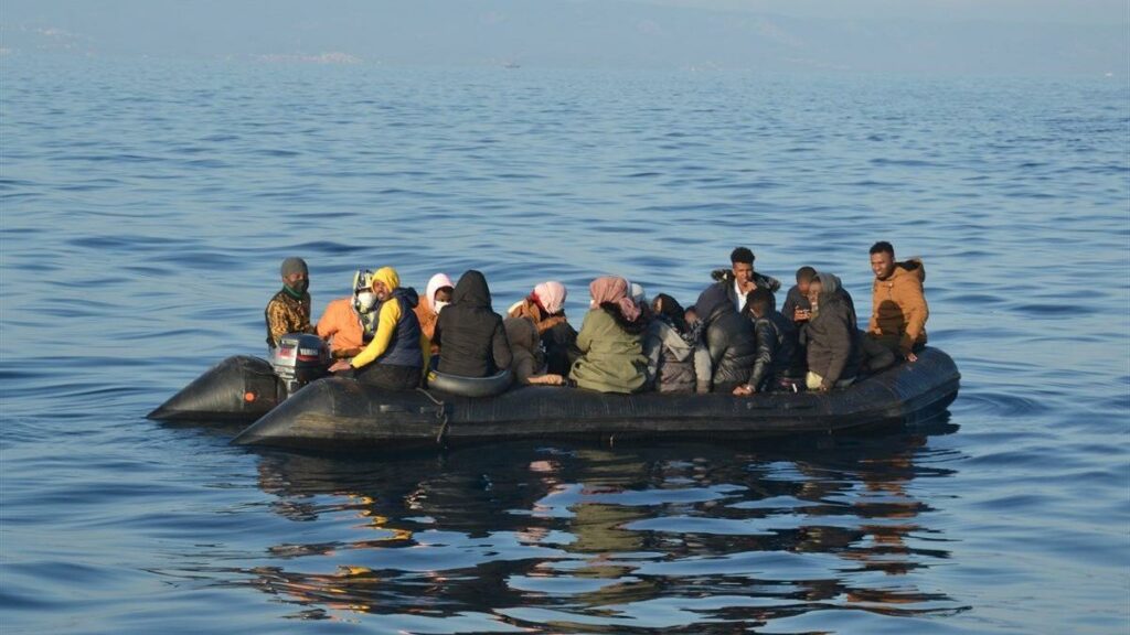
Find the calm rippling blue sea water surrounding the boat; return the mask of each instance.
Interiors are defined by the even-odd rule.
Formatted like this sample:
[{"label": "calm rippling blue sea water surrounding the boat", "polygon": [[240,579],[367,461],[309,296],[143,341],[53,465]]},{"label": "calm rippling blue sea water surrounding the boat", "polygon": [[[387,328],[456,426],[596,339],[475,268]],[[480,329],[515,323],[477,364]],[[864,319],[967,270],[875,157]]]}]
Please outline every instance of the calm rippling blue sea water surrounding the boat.
[{"label": "calm rippling blue sea water surrounding the boat", "polygon": [[[1121,80],[0,58],[6,633],[1125,633]],[[144,415],[258,354],[287,255],[693,302],[928,269],[947,420],[331,458]]]}]

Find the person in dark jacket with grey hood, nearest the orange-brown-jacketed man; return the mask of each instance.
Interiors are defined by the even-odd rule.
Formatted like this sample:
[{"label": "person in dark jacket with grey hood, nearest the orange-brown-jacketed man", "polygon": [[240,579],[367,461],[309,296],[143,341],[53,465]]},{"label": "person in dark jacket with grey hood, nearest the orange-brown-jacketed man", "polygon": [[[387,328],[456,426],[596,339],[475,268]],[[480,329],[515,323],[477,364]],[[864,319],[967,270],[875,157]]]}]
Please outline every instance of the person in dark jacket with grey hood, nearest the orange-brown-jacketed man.
[{"label": "person in dark jacket with grey hood, nearest the orange-brown-jacketed man", "polygon": [[809,287],[814,313],[800,332],[808,357],[805,383],[809,390],[850,386],[862,362],[854,311],[841,288],[840,278],[832,273],[817,273]]}]

